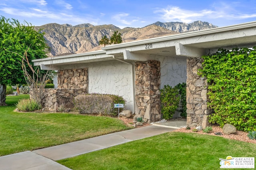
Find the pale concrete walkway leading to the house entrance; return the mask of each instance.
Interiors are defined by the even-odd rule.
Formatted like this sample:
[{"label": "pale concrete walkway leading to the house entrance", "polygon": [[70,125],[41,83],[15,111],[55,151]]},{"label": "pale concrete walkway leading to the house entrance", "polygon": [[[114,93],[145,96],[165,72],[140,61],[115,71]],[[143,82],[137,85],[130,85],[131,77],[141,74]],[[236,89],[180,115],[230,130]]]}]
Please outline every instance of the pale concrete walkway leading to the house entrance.
[{"label": "pale concrete walkway leading to the house entrance", "polygon": [[155,123],[151,126],[111,133],[54,147],[0,157],[0,170],[70,170],[55,160],[105,149],[122,143],[159,135],[186,126],[186,121]]}]

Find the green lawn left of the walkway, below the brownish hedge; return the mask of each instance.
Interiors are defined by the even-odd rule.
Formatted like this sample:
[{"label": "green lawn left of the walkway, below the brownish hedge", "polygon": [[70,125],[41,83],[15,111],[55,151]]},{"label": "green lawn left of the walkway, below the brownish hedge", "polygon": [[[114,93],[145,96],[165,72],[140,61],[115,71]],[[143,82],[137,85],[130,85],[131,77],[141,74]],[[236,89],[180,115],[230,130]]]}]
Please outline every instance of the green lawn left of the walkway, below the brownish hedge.
[{"label": "green lawn left of the walkway, below the brownish hedge", "polygon": [[18,113],[16,102],[29,95],[7,96],[0,107],[0,156],[35,150],[130,129],[121,120],[72,113]]}]

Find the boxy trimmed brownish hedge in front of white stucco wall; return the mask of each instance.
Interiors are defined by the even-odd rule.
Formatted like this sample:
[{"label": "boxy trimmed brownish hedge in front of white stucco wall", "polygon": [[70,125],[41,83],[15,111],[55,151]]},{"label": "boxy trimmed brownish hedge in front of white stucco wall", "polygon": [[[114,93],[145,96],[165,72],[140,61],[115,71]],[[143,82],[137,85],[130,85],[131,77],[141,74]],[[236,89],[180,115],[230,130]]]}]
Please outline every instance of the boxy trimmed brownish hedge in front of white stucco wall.
[{"label": "boxy trimmed brownish hedge in front of white stucco wall", "polygon": [[87,94],[74,98],[74,107],[82,114],[117,114],[114,109],[115,103],[125,104],[125,100],[110,94]]}]

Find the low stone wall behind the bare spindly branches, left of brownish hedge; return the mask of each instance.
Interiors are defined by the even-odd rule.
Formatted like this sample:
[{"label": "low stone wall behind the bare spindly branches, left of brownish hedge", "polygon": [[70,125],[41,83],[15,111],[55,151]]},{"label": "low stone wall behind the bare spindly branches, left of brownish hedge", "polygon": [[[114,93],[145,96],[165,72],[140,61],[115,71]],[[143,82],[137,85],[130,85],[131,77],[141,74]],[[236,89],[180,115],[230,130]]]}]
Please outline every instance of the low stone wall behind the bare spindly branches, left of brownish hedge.
[{"label": "low stone wall behind the bare spindly branches, left of brownish hedge", "polygon": [[66,108],[74,108],[74,97],[87,94],[87,90],[83,88],[76,89],[60,89],[49,88],[44,89],[42,99],[42,107],[49,110],[55,110],[57,105],[65,104]]}]

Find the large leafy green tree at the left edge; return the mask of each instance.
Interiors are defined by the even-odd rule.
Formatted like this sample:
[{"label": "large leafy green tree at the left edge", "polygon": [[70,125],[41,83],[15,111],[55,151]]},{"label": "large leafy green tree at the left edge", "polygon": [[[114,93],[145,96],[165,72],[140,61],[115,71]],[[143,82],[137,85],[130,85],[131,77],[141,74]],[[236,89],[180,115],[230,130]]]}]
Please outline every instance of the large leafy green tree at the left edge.
[{"label": "large leafy green tree at the left edge", "polygon": [[24,52],[30,63],[47,57],[49,47],[43,35],[31,23],[0,17],[0,106],[6,105],[6,85],[26,83],[21,67]]}]

